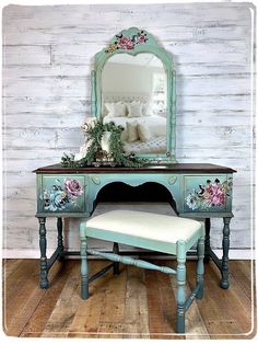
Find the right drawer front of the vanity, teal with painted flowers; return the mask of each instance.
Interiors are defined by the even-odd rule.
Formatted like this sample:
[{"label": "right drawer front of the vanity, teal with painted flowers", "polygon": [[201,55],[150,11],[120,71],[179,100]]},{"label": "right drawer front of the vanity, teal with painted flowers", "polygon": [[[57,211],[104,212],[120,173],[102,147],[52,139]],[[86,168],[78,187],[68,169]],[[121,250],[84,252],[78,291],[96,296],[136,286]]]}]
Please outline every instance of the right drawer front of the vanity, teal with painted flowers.
[{"label": "right drawer front of the vanity, teal with painted flowers", "polygon": [[185,211],[226,211],[231,197],[232,177],[226,174],[184,176]]}]

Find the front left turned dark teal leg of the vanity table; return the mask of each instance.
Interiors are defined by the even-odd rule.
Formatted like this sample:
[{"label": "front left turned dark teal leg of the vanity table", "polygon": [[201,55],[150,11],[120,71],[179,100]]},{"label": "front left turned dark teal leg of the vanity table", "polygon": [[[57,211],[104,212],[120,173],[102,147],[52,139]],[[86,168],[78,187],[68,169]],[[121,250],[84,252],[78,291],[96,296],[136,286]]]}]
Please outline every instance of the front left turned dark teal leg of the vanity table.
[{"label": "front left turned dark teal leg of the vanity table", "polygon": [[49,282],[47,279],[48,268],[47,268],[47,239],[46,239],[46,218],[39,217],[39,249],[40,249],[40,273],[39,273],[39,286],[42,289],[47,289],[49,287]]}]

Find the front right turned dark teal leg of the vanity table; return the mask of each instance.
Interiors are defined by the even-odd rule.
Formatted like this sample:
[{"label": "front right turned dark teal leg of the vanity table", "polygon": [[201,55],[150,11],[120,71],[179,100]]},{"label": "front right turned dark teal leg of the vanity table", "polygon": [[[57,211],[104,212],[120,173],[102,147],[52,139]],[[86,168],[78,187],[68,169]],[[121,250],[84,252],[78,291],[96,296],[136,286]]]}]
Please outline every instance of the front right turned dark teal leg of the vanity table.
[{"label": "front right turned dark teal leg of the vanity table", "polygon": [[230,251],[230,217],[223,217],[223,240],[222,240],[222,248],[223,248],[223,256],[221,262],[221,274],[222,279],[220,282],[220,287],[223,289],[227,289],[230,287],[228,283],[228,251]]}]

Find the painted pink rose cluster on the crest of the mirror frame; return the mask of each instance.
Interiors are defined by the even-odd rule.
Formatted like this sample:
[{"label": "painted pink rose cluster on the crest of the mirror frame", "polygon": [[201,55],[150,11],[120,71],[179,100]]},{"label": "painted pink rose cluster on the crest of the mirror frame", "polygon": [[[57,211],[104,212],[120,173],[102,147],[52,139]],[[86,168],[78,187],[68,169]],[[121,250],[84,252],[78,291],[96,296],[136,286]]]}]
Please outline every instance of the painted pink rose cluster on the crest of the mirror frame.
[{"label": "painted pink rose cluster on the crest of the mirror frame", "polygon": [[132,50],[139,44],[146,43],[148,37],[144,31],[138,32],[131,37],[124,36],[122,34],[116,35],[116,41],[107,47],[106,53],[114,53],[118,49]]}]

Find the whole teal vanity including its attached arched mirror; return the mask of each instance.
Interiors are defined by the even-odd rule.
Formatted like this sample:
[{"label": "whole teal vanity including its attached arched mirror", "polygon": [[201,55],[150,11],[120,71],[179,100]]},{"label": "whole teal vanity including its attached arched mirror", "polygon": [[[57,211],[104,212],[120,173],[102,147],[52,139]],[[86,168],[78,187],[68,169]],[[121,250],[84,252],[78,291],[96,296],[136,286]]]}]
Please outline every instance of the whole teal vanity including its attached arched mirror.
[{"label": "whole teal vanity including its attached arched mirror", "polygon": [[[108,140],[103,142],[104,135],[101,135],[99,149],[110,161],[80,165],[89,144],[92,145],[85,142],[77,157],[79,162],[74,158],[73,167],[56,164],[34,171],[37,174],[40,287],[49,286],[48,271],[55,261],[71,254],[63,248],[62,219],[89,218],[99,192],[119,182],[133,187],[159,184],[169,193],[178,216],[203,219],[206,261],[210,257],[214,261],[222,274],[220,286],[227,288],[235,171],[209,163],[177,163],[176,77],[171,53],[148,32],[131,27],[117,34],[95,55],[91,79],[92,118],[121,126],[124,136],[118,142],[122,145],[125,156],[132,152],[145,163],[140,168],[116,165]],[[58,230],[57,249],[50,259],[46,256],[47,217],[57,218]],[[222,260],[210,248],[210,219],[214,217],[223,219]]]}]

